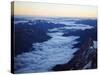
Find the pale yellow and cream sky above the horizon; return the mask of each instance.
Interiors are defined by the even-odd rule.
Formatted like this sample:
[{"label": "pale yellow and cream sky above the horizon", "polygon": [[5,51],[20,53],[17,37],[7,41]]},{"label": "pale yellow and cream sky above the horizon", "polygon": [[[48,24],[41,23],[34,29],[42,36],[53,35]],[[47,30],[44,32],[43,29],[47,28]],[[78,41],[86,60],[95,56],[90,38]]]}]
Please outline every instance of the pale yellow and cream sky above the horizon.
[{"label": "pale yellow and cream sky above the horizon", "polygon": [[97,7],[15,1],[12,15],[96,18]]}]

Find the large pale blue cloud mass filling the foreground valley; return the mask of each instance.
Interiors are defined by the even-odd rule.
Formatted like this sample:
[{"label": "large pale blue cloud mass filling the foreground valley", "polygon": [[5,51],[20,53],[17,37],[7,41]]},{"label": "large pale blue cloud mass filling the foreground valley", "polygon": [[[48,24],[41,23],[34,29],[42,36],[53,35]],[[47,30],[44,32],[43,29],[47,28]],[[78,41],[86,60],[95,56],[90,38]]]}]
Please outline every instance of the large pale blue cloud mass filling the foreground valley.
[{"label": "large pale blue cloud mass filling the foreground valley", "polygon": [[15,57],[15,73],[50,71],[57,64],[71,60],[78,48],[78,36],[62,36],[62,33],[49,33],[52,38],[43,43],[33,44],[35,51],[20,54]]}]

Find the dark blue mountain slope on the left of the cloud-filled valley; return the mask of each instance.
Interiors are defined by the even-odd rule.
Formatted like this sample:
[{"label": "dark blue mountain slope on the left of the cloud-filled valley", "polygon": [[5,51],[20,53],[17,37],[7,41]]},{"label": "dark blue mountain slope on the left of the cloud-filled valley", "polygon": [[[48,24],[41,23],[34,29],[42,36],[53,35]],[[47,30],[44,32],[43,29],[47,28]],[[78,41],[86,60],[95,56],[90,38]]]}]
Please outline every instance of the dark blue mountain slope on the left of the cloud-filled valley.
[{"label": "dark blue mountain slope on the left of the cloud-filled valley", "polygon": [[49,40],[51,37],[47,35],[48,29],[63,26],[63,24],[48,23],[45,20],[17,22],[14,25],[15,56],[23,52],[29,52],[33,43]]}]

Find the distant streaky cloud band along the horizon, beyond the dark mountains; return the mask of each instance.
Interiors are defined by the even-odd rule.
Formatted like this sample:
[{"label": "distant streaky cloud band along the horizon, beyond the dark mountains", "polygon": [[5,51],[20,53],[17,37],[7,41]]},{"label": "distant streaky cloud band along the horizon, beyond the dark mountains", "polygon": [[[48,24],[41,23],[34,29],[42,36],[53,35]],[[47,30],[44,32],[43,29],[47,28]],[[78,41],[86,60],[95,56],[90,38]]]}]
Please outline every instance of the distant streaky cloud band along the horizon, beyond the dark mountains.
[{"label": "distant streaky cloud band along the horizon, beyond the dark mountains", "polygon": [[[19,17],[18,17],[19,18]],[[62,31],[64,29],[74,29],[74,30],[85,30],[85,29],[91,29],[93,26],[86,25],[86,24],[76,24],[77,21],[84,20],[79,18],[54,18],[54,17],[23,17],[26,20],[20,20],[20,21],[14,21],[14,24],[18,23],[28,23],[30,20],[35,24],[35,20],[45,20],[48,23],[54,23],[54,24],[64,24],[66,26],[54,29],[50,29],[50,31]],[[28,25],[32,25],[32,23],[28,23]]]}]

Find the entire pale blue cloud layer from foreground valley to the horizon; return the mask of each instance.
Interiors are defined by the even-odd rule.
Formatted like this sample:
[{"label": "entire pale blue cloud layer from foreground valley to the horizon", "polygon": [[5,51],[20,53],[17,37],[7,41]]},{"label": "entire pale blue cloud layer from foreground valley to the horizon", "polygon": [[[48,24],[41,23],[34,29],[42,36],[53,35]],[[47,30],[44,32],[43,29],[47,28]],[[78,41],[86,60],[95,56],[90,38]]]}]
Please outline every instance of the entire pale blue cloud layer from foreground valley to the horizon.
[{"label": "entire pale blue cloud layer from foreground valley to the horizon", "polygon": [[68,33],[69,30],[85,31],[94,28],[94,26],[89,24],[76,24],[76,21],[82,19],[72,18],[63,18],[62,20],[60,19],[61,21],[57,18],[28,18],[24,21],[14,21],[14,24],[27,23],[29,26],[36,25],[36,20],[38,19],[41,22],[46,21],[47,24],[62,24],[64,26],[54,28],[48,27],[45,33],[47,36],[51,37],[50,39],[43,42],[33,42],[30,48],[31,51],[23,52],[15,56],[15,73],[51,71],[51,69],[58,64],[68,63],[74,57],[74,53],[79,50],[79,48],[75,48],[74,46],[80,43],[80,41],[78,41],[80,36],[63,36],[64,33]]}]

